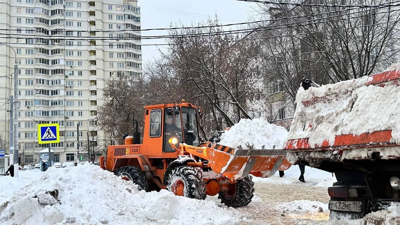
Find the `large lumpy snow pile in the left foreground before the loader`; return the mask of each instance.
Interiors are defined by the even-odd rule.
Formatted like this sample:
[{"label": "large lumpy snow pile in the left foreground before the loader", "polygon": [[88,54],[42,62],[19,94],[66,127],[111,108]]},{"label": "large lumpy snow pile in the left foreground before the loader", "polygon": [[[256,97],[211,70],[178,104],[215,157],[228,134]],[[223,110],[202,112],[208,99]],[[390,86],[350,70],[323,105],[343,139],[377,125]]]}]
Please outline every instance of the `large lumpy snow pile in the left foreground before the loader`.
[{"label": "large lumpy snow pile in the left foreground before the loader", "polygon": [[90,164],[51,167],[12,195],[9,188],[0,189],[0,224],[4,225],[234,225],[239,221],[234,209],[166,190],[139,192],[132,182]]}]

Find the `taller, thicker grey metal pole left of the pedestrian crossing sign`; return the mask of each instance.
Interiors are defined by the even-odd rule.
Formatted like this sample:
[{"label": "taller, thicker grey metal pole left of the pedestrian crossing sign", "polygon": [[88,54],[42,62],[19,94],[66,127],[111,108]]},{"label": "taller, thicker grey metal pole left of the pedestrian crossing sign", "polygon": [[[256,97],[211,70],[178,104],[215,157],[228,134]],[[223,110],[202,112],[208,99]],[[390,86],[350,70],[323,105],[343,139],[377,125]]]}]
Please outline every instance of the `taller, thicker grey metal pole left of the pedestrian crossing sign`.
[{"label": "taller, thicker grey metal pole left of the pedestrian crossing sign", "polygon": [[[14,49],[13,49],[14,50]],[[15,57],[17,57],[15,55]],[[18,177],[18,65],[14,64],[14,177]],[[10,87],[11,88],[11,87]],[[50,155],[49,155],[50,157]]]}]

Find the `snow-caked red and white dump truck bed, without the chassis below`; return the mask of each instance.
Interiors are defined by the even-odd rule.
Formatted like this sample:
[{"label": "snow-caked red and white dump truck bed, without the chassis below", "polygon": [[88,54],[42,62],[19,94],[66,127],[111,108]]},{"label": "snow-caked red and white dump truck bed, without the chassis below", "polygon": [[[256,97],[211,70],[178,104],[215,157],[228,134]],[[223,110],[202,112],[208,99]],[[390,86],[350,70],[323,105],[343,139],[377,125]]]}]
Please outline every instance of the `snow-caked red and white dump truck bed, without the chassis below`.
[{"label": "snow-caked red and white dump truck bed, without the chassis below", "polygon": [[300,90],[290,163],[400,158],[400,70]]}]

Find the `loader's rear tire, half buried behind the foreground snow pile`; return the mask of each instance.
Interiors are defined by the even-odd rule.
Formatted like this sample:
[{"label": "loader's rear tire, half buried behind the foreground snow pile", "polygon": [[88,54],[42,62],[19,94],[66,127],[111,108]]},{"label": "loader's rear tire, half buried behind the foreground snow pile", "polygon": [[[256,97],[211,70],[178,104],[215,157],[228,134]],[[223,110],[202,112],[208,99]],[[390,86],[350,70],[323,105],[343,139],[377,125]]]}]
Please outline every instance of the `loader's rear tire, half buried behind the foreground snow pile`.
[{"label": "loader's rear tire, half buried behind the foreground snow pile", "polygon": [[149,182],[144,175],[144,172],[138,167],[121,167],[115,172],[115,175],[126,181],[132,181],[138,185],[138,190],[149,191]]}]

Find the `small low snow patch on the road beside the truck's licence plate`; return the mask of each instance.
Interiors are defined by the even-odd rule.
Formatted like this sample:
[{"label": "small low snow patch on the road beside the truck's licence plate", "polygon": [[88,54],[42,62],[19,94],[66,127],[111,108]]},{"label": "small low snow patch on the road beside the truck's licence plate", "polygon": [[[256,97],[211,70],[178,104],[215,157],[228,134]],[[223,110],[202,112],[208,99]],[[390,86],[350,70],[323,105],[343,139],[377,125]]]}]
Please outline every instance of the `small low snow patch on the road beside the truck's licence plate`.
[{"label": "small low snow patch on the road beside the truck's licence plate", "polygon": [[275,207],[278,211],[288,211],[289,213],[306,213],[306,212],[316,212],[320,210],[328,211],[328,204],[324,204],[319,201],[310,200],[296,200],[292,202],[283,203]]}]

